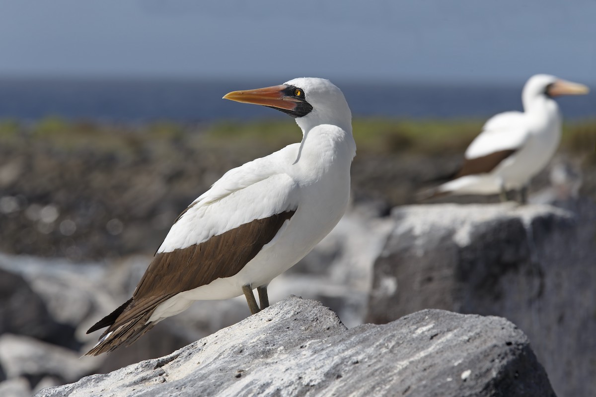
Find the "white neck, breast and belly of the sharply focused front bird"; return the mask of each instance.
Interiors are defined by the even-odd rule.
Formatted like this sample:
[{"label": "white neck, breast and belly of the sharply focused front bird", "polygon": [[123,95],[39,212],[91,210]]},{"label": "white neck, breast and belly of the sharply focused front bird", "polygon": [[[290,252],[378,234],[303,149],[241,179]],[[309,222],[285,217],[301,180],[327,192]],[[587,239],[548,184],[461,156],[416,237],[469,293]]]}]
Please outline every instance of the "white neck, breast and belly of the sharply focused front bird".
[{"label": "white neck, breast and belly of the sharply focused front bird", "polygon": [[302,145],[291,145],[283,162],[285,173],[296,183],[293,217],[238,274],[179,295],[191,300],[227,299],[241,295],[244,285],[266,285],[308,254],[336,226],[349,201],[355,143],[339,127],[317,128],[321,130],[311,130]]}]

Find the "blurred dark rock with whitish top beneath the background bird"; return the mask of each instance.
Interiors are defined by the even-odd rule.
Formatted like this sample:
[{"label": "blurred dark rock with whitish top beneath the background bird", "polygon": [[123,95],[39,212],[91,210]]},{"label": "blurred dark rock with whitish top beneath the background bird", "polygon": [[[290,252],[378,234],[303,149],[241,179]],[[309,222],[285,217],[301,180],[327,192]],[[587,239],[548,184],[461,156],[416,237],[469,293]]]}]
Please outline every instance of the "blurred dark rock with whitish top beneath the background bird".
[{"label": "blurred dark rock with whitish top beneath the background bird", "polygon": [[554,390],[596,390],[596,208],[396,208],[374,265],[367,321],[424,308],[508,318],[530,338]]}]

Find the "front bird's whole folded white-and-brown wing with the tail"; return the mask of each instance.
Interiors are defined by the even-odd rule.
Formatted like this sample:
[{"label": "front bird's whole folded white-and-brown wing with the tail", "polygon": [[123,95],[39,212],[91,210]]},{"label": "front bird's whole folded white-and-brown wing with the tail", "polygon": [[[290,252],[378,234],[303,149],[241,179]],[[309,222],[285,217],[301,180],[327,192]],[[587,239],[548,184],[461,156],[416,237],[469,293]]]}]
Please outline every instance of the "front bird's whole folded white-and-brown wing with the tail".
[{"label": "front bird's whole folded white-and-brown wing with the tail", "polygon": [[[259,163],[238,168],[247,166]],[[299,201],[294,180],[262,168],[259,177],[243,179],[255,174],[238,168],[182,212],[132,298],[89,329],[108,327],[88,354],[134,342],[153,326],[147,320],[156,307],[172,296],[234,276],[291,219]]]}]

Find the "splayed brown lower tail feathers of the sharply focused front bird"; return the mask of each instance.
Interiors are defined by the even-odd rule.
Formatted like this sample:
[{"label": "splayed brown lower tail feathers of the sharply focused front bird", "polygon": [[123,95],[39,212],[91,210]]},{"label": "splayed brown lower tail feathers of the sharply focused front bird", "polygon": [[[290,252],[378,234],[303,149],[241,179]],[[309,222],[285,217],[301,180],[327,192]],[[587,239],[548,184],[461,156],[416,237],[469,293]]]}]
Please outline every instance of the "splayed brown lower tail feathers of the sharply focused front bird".
[{"label": "splayed brown lower tail feathers of the sharply focused front bird", "polygon": [[153,310],[139,315],[139,317],[132,318],[128,323],[122,324],[114,330],[108,328],[91,350],[85,353],[86,356],[97,356],[102,353],[111,352],[119,348],[121,345],[130,346],[136,342],[139,336],[153,328],[156,323],[147,323],[147,320],[153,314]]}]

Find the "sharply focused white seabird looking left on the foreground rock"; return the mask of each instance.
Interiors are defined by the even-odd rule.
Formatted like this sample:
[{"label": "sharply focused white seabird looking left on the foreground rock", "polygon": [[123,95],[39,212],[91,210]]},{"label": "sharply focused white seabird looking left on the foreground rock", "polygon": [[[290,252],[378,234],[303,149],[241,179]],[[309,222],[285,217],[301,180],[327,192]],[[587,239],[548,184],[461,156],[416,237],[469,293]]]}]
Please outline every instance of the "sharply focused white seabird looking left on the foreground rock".
[{"label": "sharply focused white seabird looking left on the foreground rock", "polygon": [[329,80],[300,78],[224,98],[291,115],[302,142],[229,170],[184,210],[132,298],[89,329],[108,327],[86,355],[130,345],[196,300],[244,293],[254,314],[259,306],[252,290],[267,307],[268,283],[342,218],[356,154],[342,91]]}]

